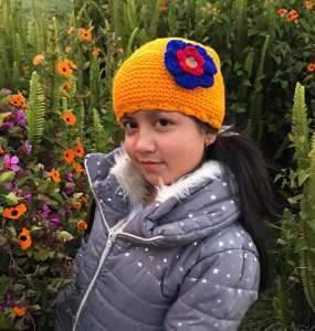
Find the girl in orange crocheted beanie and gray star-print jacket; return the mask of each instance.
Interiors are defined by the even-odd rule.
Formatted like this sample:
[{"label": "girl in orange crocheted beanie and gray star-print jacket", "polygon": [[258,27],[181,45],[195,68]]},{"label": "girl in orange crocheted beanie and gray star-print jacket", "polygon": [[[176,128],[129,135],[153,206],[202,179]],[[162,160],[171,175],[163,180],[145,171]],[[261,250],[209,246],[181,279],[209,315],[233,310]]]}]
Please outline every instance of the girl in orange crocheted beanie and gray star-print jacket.
[{"label": "girl in orange crocheted beanie and gray star-print jacket", "polygon": [[273,216],[263,158],[222,130],[217,53],[169,38],[118,70],[122,148],[88,154],[93,226],[55,331],[237,330],[267,281],[262,222]]}]

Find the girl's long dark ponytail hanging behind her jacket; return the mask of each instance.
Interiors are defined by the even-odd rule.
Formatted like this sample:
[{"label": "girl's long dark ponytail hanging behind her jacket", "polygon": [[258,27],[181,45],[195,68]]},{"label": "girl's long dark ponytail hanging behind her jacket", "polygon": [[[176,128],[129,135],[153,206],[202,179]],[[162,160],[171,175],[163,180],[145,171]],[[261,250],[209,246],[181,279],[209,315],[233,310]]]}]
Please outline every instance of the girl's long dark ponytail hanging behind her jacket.
[{"label": "girl's long dark ponytail hanging behind her jacket", "polygon": [[241,201],[240,223],[258,247],[261,263],[260,291],[263,291],[270,276],[264,218],[280,218],[280,215],[262,152],[251,138],[231,127],[218,131],[198,119],[195,121],[206,132],[218,134],[216,141],[207,147],[204,158],[220,161],[225,168],[224,172],[231,172],[234,177]]}]

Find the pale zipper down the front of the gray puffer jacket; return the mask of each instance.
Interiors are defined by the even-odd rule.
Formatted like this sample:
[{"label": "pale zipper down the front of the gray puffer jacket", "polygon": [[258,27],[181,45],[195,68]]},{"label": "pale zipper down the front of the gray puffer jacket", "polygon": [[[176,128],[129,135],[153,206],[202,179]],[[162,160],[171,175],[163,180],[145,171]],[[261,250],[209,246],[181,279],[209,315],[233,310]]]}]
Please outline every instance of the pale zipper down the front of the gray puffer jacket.
[{"label": "pale zipper down the front of the gray puffer jacket", "polygon": [[81,300],[80,307],[78,307],[77,312],[75,314],[75,320],[74,320],[74,323],[73,323],[73,327],[72,327],[72,331],[75,331],[75,329],[77,327],[77,322],[78,322],[78,319],[81,317],[83,307],[84,307],[84,305],[85,305],[85,302],[87,300],[87,297],[88,297],[88,295],[90,295],[90,292],[91,292],[91,290],[92,290],[95,281],[96,281],[97,277],[98,277],[98,274],[99,274],[99,271],[102,269],[102,266],[103,266],[103,264],[104,264],[104,261],[105,261],[105,259],[106,259],[106,257],[107,257],[107,255],[108,255],[108,253],[109,253],[113,244],[116,242],[116,238],[117,238],[118,234],[123,232],[122,229],[125,226],[124,221],[125,220],[119,221],[115,226],[113,226],[111,228],[111,231],[108,233],[106,245],[105,245],[105,249],[103,250],[103,254],[102,254],[102,257],[99,259],[97,269],[96,269],[96,271],[94,274],[94,277],[93,277],[92,281],[88,285],[88,288],[87,288],[87,290],[86,290],[83,299]]}]

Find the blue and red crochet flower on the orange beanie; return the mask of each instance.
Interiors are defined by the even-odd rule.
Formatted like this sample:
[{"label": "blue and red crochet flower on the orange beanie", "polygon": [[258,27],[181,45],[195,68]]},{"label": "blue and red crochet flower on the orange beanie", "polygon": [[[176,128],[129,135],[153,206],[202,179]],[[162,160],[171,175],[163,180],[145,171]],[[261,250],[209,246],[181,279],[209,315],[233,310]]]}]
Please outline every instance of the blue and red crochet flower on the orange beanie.
[{"label": "blue and red crochet flower on the orange beanie", "polygon": [[199,45],[171,40],[166,45],[164,62],[175,82],[182,87],[207,88],[214,84],[213,75],[218,72],[216,63]]}]

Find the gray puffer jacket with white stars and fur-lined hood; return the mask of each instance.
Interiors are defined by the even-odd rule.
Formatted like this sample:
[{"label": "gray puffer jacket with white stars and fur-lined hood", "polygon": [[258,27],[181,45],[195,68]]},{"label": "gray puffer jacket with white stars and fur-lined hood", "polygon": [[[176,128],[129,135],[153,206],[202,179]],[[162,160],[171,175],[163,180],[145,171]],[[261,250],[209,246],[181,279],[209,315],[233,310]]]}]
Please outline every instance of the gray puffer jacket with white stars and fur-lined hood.
[{"label": "gray puffer jacket with white stars and fur-lined hood", "polygon": [[237,330],[258,298],[260,264],[235,188],[208,161],[126,222],[147,188],[122,149],[88,154],[97,204],[55,301],[55,331]]}]

